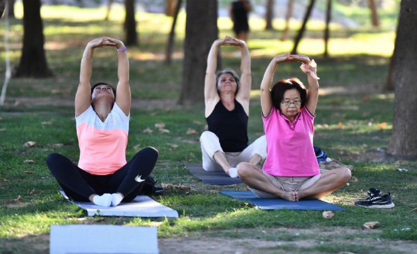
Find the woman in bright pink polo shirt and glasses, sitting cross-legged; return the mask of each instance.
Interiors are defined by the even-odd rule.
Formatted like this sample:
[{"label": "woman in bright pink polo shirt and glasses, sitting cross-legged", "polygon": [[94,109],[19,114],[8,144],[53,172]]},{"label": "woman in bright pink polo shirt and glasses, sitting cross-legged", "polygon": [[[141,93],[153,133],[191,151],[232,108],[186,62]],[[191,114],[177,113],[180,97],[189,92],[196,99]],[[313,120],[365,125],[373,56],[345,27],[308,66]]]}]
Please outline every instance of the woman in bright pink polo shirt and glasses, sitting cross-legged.
[{"label": "woman in bright pink polo shirt and glasses, sitting cross-legged", "polygon": [[[282,79],[270,90],[279,63],[302,62],[309,89],[297,78]],[[259,198],[299,201],[319,199],[341,188],[350,179],[347,168],[320,174],[313,148],[313,121],[318,101],[316,64],[304,55],[276,56],[266,68],[261,83],[266,160],[258,167],[240,163],[237,173]]]}]

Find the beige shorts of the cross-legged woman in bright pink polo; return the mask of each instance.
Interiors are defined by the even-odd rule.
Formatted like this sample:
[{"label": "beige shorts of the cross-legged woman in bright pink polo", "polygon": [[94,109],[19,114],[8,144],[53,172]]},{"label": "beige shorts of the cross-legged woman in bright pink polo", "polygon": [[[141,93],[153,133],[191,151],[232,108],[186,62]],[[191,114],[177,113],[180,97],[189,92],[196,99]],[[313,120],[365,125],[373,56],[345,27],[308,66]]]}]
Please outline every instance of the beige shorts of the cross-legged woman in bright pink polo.
[{"label": "beige shorts of the cross-legged woman in bright pink polo", "polygon": [[[262,170],[262,173],[270,179],[272,184],[277,186],[280,189],[285,190],[286,192],[297,192],[299,190],[306,189],[313,185],[318,179],[320,179],[321,174],[315,176],[274,176],[266,173]],[[271,193],[262,192],[262,190],[257,190],[249,188],[258,198],[261,199],[276,199],[277,196]]]}]

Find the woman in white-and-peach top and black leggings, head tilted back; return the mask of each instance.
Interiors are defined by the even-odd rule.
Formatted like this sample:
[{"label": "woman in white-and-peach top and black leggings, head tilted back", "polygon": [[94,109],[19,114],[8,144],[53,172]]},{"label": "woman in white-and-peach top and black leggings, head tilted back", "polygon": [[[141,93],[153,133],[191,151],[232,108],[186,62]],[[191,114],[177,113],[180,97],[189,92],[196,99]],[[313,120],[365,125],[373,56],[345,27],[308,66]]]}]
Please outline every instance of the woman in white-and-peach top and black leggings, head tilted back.
[{"label": "woman in white-and-peach top and black leggings, head tilted back", "polygon": [[[90,85],[94,50],[104,47],[116,48],[116,90],[107,83]],[[157,162],[158,151],[153,147],[140,150],[126,162],[131,107],[126,50],[122,41],[108,37],[87,44],[75,95],[78,165],[57,153],[46,158],[52,175],[74,201],[91,201],[100,206],[130,202],[139,194]]]}]

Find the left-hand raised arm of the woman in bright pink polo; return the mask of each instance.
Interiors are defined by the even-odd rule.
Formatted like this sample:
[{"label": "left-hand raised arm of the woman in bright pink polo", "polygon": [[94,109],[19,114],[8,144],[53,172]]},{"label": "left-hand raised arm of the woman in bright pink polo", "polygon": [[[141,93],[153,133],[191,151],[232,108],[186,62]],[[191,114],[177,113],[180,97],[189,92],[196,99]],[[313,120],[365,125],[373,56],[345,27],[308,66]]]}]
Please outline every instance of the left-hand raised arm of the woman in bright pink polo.
[{"label": "left-hand raised arm of the woman in bright pink polo", "polygon": [[275,56],[265,70],[260,86],[261,108],[263,116],[269,115],[272,109],[271,83],[278,64],[289,60],[289,53]]}]

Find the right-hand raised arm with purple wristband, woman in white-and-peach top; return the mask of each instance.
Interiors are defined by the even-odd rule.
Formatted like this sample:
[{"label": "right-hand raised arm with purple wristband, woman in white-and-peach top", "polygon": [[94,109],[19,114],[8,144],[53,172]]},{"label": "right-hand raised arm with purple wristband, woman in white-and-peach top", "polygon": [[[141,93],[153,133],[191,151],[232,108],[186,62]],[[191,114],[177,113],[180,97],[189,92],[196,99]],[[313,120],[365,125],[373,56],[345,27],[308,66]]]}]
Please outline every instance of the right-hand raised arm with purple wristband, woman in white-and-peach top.
[{"label": "right-hand raised arm with purple wristband, woman in white-and-peach top", "polygon": [[132,96],[129,85],[129,58],[126,51],[125,44],[117,39],[108,38],[110,42],[115,44],[117,49],[118,65],[117,78],[118,83],[116,87],[116,103],[125,113],[129,115],[132,104]]}]

